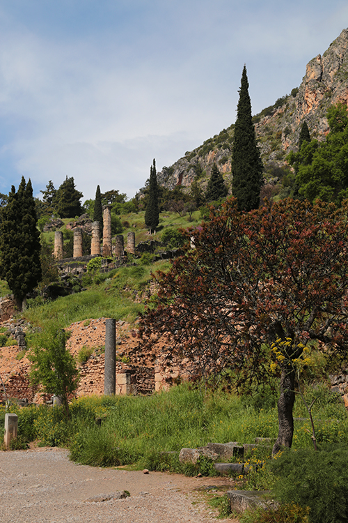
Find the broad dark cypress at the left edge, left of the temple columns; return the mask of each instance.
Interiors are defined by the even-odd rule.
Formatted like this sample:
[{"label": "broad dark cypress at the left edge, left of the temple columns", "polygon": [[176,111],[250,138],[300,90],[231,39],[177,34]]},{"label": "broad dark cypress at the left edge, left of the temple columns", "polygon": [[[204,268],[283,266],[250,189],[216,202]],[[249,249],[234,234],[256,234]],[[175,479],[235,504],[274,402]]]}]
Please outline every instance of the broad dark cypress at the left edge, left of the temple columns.
[{"label": "broad dark cypress at the left edge, left of the temple columns", "polygon": [[18,191],[12,186],[8,204],[1,209],[0,275],[13,291],[19,309],[26,294],[41,279],[40,232],[36,227],[31,181],[22,178]]}]

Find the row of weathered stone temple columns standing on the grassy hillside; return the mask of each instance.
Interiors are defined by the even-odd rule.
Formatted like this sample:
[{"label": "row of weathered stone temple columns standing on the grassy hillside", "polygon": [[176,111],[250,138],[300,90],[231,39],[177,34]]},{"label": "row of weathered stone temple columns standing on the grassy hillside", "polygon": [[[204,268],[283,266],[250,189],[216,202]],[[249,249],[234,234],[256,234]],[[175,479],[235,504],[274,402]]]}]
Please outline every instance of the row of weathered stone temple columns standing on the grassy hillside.
[{"label": "row of weathered stone temple columns standing on the grassy hillside", "polygon": [[[92,241],[90,244],[90,255],[102,255],[109,257],[112,255],[111,244],[111,209],[109,206],[104,207],[103,212],[103,246],[100,248],[100,223],[93,222],[92,224]],[[135,254],[135,234],[129,232],[127,234],[127,252]],[[116,257],[121,257],[125,254],[124,241],[122,234],[116,236]],[[74,230],[74,249],[73,257],[79,258],[83,255],[82,246],[82,229]],[[57,259],[63,258],[63,232],[56,231],[54,234],[54,257]]]}]

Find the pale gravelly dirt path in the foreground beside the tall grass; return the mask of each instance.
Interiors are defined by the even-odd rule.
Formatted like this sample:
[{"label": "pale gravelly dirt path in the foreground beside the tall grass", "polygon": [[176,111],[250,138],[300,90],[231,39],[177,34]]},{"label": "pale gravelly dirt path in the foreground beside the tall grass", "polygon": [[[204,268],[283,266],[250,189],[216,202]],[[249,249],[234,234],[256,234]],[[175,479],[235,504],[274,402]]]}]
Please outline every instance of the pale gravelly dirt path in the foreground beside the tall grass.
[{"label": "pale gravelly dirt path in the foreground beside the tall grass", "polygon": [[[216,523],[217,513],[203,494],[212,485],[219,494],[232,487],[228,478],[78,465],[58,448],[0,452],[0,522]],[[123,490],[130,497],[88,501]]]}]

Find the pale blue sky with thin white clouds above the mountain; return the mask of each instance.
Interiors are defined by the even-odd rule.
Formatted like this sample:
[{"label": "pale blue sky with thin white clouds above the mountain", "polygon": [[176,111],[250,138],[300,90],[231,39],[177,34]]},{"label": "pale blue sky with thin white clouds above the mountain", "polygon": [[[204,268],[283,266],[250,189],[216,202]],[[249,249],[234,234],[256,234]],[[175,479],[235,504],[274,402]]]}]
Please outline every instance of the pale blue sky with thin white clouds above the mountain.
[{"label": "pale blue sky with thin white clouds above the mountain", "polygon": [[301,84],[348,27],[347,0],[0,0],[0,192],[73,176],[130,199]]}]

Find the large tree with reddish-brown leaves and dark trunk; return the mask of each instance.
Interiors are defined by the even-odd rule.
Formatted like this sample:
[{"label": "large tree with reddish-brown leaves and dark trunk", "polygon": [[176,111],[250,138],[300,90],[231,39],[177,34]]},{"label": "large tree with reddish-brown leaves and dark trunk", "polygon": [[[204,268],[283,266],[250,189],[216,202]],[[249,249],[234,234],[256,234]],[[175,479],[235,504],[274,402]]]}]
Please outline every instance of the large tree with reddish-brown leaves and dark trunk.
[{"label": "large tree with reddish-brown leaves and dark trunk", "polygon": [[[347,207],[290,199],[249,213],[229,199],[194,234],[195,248],[158,273],[144,340],[166,335],[168,354],[200,377],[232,370],[244,386],[267,379],[278,347],[278,439],[292,445],[295,368],[310,340],[346,354]],[[280,353],[280,358],[279,358]]]}]

